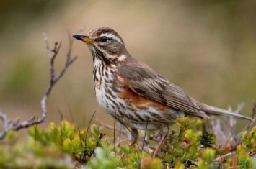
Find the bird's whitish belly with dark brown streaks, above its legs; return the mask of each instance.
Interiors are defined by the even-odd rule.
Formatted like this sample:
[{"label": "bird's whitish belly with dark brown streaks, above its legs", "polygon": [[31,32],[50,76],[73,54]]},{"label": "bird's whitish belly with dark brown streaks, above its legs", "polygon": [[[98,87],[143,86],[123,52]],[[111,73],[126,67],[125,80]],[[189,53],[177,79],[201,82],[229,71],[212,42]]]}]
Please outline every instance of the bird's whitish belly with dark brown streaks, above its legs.
[{"label": "bird's whitish belly with dark brown streaks, above its legs", "polygon": [[162,110],[146,103],[133,104],[129,99],[120,98],[111,88],[95,87],[95,93],[99,106],[127,127],[154,130],[159,129],[161,123],[172,124],[184,116],[171,108]]}]

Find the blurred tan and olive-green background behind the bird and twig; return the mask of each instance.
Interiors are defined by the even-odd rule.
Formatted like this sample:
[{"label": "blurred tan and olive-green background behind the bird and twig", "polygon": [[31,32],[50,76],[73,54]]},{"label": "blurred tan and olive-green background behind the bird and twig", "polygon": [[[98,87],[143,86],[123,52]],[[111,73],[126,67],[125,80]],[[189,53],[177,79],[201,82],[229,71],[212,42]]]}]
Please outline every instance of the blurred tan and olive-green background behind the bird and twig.
[{"label": "blurred tan and olive-green background behind the bird and twig", "polygon": [[[66,59],[67,32],[85,25],[83,34],[100,26],[115,29],[133,57],[193,98],[224,109],[245,102],[241,113],[250,116],[256,99],[255,17],[254,0],[0,1],[0,107],[12,119],[40,116],[50,75],[42,33],[52,47],[62,42],[58,71]],[[89,49],[75,41],[73,55],[79,58],[54,86],[40,125],[58,124],[58,109],[79,127],[89,124],[94,111],[113,124],[97,106]]]}]

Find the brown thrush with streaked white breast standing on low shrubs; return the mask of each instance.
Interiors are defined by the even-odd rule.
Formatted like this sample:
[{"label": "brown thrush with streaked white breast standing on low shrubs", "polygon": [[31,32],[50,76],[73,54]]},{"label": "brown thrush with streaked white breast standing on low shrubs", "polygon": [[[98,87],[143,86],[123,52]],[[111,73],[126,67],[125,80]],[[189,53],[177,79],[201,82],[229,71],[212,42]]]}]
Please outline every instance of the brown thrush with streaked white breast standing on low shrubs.
[{"label": "brown thrush with streaked white breast standing on low shrubs", "polygon": [[200,103],[156,70],[133,58],[114,29],[97,27],[87,35],[73,35],[87,44],[92,53],[94,91],[107,114],[131,128],[131,145],[138,129],[160,130],[161,139],[151,154],[161,150],[175,119],[226,115],[252,121],[250,117]]}]

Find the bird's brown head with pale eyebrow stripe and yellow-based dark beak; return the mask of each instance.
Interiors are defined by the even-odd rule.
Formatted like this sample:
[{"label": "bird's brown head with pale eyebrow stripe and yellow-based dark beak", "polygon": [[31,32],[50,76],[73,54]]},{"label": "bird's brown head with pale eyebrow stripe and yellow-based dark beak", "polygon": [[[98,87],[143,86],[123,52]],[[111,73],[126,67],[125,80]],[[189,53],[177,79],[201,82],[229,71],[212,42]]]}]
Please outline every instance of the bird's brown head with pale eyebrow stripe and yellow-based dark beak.
[{"label": "bird's brown head with pale eyebrow stripe and yellow-based dark beak", "polygon": [[123,61],[129,56],[122,38],[109,27],[98,27],[92,29],[88,35],[73,37],[86,42],[93,57],[107,63]]}]

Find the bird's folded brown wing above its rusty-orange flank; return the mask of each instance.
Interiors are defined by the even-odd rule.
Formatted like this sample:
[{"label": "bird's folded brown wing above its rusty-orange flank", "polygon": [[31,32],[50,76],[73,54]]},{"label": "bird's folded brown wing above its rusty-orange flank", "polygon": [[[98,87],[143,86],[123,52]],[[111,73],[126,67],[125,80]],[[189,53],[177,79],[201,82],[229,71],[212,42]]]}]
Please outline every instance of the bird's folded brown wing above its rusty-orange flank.
[{"label": "bird's folded brown wing above its rusty-orange flank", "polygon": [[156,73],[148,65],[133,58],[119,68],[119,78],[139,96],[200,117],[208,117],[178,86]]}]

